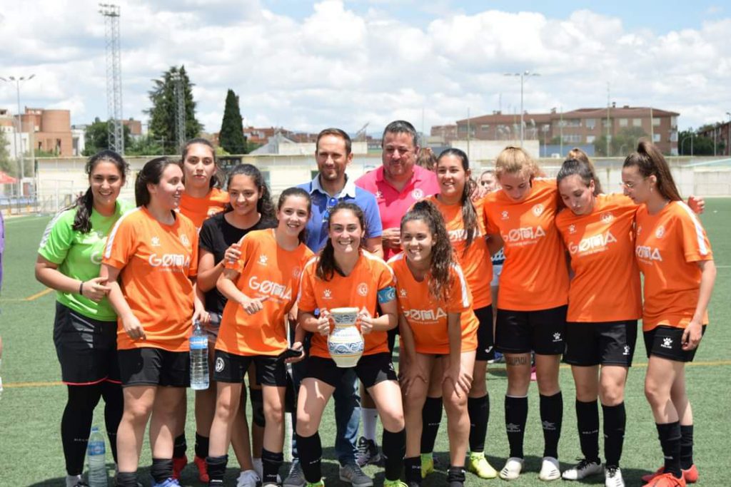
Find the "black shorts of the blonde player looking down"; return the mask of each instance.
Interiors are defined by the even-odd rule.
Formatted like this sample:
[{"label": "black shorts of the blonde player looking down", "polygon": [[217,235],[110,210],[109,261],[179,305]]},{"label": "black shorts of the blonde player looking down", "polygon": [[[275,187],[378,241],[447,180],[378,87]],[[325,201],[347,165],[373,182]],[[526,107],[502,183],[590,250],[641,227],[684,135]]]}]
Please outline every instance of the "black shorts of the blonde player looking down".
[{"label": "black shorts of the blonde player looking down", "polygon": [[495,346],[502,353],[561,355],[564,353],[566,305],[548,310],[511,311],[498,308]]}]

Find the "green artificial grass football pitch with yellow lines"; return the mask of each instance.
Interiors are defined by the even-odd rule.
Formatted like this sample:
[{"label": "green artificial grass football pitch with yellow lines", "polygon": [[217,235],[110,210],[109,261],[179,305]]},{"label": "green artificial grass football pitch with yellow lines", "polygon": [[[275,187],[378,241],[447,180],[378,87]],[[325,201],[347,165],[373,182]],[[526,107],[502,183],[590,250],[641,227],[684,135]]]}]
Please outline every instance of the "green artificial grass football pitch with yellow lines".
[{"label": "green artificial grass football pitch with yellow lines", "polygon": [[[711,301],[711,326],[700,345],[695,361],[686,376],[695,417],[694,459],[700,470],[697,486],[731,486],[731,199],[709,199],[702,222],[711,239],[718,269],[716,288]],[[0,486],[63,486],[66,475],[61,450],[60,422],[66,401],[66,388],[58,382],[60,368],[53,348],[53,310],[55,296],[43,294],[45,287],[34,279],[33,264],[42,231],[48,217],[23,217],[6,221],[4,285],[0,296],[0,334],[3,360],[0,377],[4,393],[0,399]],[[611,292],[610,290],[607,290]],[[651,410],[643,394],[647,359],[641,334],[637,340],[635,363],[626,386],[627,428],[621,467],[627,486],[640,486],[640,476],[662,465]],[[507,458],[504,432],[503,398],[507,378],[504,366],[491,366],[488,391],[491,395],[491,418],[485,453],[493,467],[500,469]],[[564,393],[564,424],[559,445],[561,470],[580,456],[574,413],[574,385],[568,367],[561,367]],[[186,427],[188,457],[192,461],[194,444],[193,394],[189,391]],[[523,474],[513,480],[515,486],[544,485],[538,480],[542,455],[542,429],[538,418],[537,387],[531,386],[530,410],[526,432],[526,464]],[[94,424],[102,426],[103,402],[96,409]],[[324,447],[323,474],[327,486],[344,486],[338,480],[337,462],[333,460],[334,416],[332,402],[323,418],[320,435]],[[601,442],[600,442],[601,444]],[[286,446],[285,446],[286,448]],[[448,463],[446,418],[436,444],[438,472],[425,479],[425,487],[444,485]],[[110,471],[113,461],[107,444]],[[141,456],[140,481],[149,485],[151,456],[145,441]],[[281,475],[287,475],[286,464]],[[382,485],[380,467],[367,467]],[[238,466],[230,452],[227,485],[235,485]],[[556,480],[556,484],[565,483]],[[467,474],[467,485],[499,485],[503,480],[482,480]],[[183,471],[181,484],[201,485],[197,470]],[[578,484],[604,485],[598,475]],[[110,485],[113,485],[110,483]]]}]

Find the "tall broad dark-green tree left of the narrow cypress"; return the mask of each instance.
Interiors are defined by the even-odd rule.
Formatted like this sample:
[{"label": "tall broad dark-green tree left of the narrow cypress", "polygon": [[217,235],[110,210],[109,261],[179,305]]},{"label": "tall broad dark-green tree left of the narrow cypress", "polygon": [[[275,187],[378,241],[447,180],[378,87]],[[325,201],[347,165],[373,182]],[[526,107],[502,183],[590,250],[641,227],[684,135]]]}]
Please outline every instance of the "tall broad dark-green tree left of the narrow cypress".
[{"label": "tall broad dark-green tree left of the narrow cypress", "polygon": [[184,66],[172,66],[162,74],[162,79],[153,80],[154,87],[148,91],[152,108],[145,110],[150,115],[150,134],[153,139],[161,140],[166,153],[178,153],[178,130],[175,126],[178,99],[175,97],[175,75],[180,75],[183,83],[183,99],[185,100],[185,138],[192,139],[200,134],[202,124],[195,118],[196,103],[193,100],[192,87]]}]

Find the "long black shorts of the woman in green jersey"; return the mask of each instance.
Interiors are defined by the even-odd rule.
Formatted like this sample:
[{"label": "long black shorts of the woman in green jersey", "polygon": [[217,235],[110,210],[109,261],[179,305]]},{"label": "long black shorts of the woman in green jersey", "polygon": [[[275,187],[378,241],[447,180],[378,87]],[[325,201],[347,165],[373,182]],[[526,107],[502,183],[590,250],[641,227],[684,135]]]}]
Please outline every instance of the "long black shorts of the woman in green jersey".
[{"label": "long black shorts of the woman in green jersey", "polygon": [[120,382],[116,321],[87,318],[56,302],[53,343],[64,384],[88,386],[103,380]]}]

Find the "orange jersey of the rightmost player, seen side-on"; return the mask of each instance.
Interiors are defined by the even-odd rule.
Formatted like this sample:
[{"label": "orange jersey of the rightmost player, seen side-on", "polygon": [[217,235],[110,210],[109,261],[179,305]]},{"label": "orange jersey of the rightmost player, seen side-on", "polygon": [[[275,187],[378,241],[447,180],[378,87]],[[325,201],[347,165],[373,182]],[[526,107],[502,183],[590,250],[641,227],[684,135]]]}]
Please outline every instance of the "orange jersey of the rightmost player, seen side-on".
[{"label": "orange jersey of the rightmost player, seen side-on", "polygon": [[[699,261],[713,260],[698,217],[683,202],[670,202],[656,215],[637,210],[635,258],[645,275],[643,329],[685,328],[700,293]],[[708,323],[708,314],[703,317]]]}]

